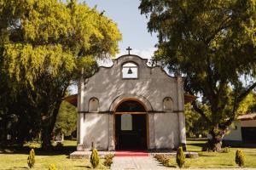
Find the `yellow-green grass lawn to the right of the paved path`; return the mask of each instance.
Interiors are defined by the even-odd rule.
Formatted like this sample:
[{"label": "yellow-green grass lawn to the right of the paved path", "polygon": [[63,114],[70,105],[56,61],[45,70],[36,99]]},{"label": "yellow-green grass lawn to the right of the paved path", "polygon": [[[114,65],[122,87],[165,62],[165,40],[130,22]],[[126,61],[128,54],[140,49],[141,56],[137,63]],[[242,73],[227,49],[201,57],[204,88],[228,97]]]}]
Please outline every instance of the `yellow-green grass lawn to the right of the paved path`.
[{"label": "yellow-green grass lawn to the right of the paved path", "polygon": [[[185,167],[189,168],[239,168],[235,162],[236,150],[243,150],[245,153],[245,166],[256,167],[256,149],[253,148],[230,148],[230,153],[217,153],[201,151],[201,146],[206,141],[187,141],[189,151],[199,153],[198,158],[186,158]],[[176,159],[171,158],[170,167],[177,167]]]}]

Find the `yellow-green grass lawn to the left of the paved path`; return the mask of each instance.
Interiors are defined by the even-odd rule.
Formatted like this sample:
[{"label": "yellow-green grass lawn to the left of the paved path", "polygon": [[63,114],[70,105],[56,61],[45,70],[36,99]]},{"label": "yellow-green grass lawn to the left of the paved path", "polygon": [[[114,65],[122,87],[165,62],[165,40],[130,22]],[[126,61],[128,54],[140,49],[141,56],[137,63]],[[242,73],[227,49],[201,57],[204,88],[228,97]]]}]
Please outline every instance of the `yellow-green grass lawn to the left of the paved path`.
[{"label": "yellow-green grass lawn to the left of the paved path", "polygon": [[[26,159],[29,154],[29,148],[26,147],[22,150],[15,150],[14,152],[0,154],[0,169],[25,169],[27,168]],[[48,169],[51,163],[55,164],[57,169],[61,170],[74,170],[74,169],[91,169],[90,160],[69,159],[69,154],[76,150],[76,141],[65,141],[64,149],[61,151],[40,151],[39,144],[36,146],[36,163],[32,169]],[[100,165],[97,169],[109,169],[102,165],[103,160],[100,160]]]}]

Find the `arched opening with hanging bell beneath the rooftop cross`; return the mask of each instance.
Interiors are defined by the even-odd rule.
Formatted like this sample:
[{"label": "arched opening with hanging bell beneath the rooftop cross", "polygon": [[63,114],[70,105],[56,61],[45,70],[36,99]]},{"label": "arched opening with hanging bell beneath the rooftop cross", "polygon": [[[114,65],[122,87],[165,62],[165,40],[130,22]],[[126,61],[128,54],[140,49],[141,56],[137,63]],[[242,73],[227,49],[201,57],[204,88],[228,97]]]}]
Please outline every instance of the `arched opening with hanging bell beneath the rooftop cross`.
[{"label": "arched opening with hanging bell beneath the rooftop cross", "polygon": [[122,66],[123,78],[137,78],[137,65],[129,62]]}]

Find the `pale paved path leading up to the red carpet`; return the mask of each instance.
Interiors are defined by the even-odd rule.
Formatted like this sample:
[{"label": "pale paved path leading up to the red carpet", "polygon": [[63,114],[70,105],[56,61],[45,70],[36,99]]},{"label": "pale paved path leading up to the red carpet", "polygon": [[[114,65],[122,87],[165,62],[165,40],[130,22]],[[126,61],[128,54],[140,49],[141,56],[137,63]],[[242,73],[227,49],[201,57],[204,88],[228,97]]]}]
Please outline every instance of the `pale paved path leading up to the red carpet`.
[{"label": "pale paved path leading up to the red carpet", "polygon": [[112,170],[166,170],[151,156],[115,156],[113,157]]}]

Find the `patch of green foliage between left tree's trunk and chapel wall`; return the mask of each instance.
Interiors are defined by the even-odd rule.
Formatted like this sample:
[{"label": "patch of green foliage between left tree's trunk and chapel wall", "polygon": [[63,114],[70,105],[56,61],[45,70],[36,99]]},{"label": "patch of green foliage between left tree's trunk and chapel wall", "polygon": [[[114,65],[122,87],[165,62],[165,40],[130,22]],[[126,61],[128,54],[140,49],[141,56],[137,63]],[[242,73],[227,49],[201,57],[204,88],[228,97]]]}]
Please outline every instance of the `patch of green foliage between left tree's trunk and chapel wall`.
[{"label": "patch of green foliage between left tree's trunk and chapel wall", "polygon": [[70,136],[77,128],[77,111],[76,107],[67,103],[61,102],[61,107],[57,120],[55,122],[55,133],[63,133],[65,136]]}]

